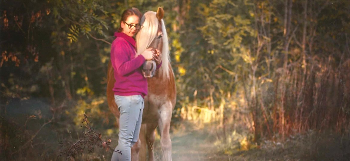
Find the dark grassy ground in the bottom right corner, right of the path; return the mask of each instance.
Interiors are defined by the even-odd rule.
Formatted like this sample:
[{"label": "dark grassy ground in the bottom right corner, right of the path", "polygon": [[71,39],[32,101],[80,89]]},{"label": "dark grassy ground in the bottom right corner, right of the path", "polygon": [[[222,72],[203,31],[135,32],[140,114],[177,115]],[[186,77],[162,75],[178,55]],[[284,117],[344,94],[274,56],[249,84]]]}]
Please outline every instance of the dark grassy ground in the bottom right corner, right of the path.
[{"label": "dark grassy ground in the bottom right corner, right of the path", "polygon": [[[285,141],[265,140],[260,146],[247,151],[229,149],[229,160],[235,161],[347,161],[350,159],[350,136],[334,133],[309,131],[303,135],[290,136]],[[208,160],[227,160],[228,155],[221,149]]]}]

